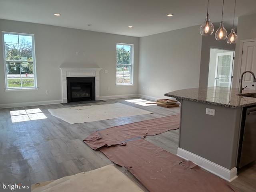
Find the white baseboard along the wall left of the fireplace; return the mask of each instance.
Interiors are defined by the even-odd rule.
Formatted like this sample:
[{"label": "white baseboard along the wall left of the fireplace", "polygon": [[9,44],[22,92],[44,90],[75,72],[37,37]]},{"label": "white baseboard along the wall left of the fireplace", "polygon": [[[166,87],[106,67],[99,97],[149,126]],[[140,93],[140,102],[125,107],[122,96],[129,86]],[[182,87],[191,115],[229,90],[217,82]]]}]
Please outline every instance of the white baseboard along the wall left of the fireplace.
[{"label": "white baseboard along the wall left of the fireplace", "polygon": [[2,108],[14,108],[14,107],[38,106],[38,105],[48,105],[48,104],[59,104],[59,103],[62,103],[62,100],[23,102],[23,103],[6,103],[6,104],[0,104],[0,109],[2,109]]}]

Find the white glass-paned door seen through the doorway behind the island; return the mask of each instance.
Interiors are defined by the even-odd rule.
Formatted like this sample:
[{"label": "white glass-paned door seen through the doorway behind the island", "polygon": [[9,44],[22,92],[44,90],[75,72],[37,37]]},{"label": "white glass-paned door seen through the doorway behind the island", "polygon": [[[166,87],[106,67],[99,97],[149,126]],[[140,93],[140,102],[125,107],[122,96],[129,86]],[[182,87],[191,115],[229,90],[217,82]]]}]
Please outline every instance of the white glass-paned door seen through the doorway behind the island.
[{"label": "white glass-paned door seen through the doorway behind the island", "polygon": [[234,51],[217,53],[214,86],[231,87]]}]

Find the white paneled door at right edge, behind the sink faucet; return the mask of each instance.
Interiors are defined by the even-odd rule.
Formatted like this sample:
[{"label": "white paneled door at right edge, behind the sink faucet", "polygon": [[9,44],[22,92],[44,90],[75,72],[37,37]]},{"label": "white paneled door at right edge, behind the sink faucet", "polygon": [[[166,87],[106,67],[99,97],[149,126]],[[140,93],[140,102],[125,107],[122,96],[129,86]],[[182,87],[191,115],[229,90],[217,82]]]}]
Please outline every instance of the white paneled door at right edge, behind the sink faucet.
[{"label": "white paneled door at right edge, behind the sink faucet", "polygon": [[[242,65],[240,74],[242,74],[242,72],[244,71],[252,71],[256,75],[256,41],[243,43]],[[243,87],[246,87],[246,89],[255,90],[256,83],[252,81],[252,75],[250,73],[244,74]]]}]

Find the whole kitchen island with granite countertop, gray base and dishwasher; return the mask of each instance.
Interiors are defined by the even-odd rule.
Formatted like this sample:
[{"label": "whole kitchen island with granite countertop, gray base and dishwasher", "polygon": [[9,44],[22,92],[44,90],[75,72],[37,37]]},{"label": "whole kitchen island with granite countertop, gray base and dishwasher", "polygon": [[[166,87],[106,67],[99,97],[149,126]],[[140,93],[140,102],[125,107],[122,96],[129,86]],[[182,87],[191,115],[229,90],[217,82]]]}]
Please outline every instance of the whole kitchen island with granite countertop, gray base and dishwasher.
[{"label": "whole kitchen island with granite countertop, gray base and dishwasher", "polygon": [[165,94],[181,102],[177,155],[230,182],[237,168],[256,159],[256,98],[237,94],[224,87]]}]

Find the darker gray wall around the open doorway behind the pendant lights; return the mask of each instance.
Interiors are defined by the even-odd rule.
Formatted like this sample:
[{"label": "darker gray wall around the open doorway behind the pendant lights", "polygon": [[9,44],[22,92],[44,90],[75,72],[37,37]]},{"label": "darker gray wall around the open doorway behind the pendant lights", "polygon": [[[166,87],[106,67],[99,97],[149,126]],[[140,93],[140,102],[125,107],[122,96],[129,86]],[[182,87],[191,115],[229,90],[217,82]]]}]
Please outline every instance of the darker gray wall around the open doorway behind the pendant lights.
[{"label": "darker gray wall around the open doorway behind the pendant lights", "polygon": [[[218,25],[214,24],[214,32],[218,29]],[[230,30],[227,29],[228,34]],[[215,33],[214,33],[215,34]],[[236,45],[227,44],[226,40],[217,41],[214,34],[210,36],[202,37],[202,52],[201,52],[201,64],[200,64],[200,87],[207,87],[208,84],[208,72],[209,72],[209,62],[210,62],[210,49],[219,48],[226,50],[235,50]]]}]

